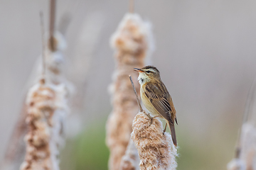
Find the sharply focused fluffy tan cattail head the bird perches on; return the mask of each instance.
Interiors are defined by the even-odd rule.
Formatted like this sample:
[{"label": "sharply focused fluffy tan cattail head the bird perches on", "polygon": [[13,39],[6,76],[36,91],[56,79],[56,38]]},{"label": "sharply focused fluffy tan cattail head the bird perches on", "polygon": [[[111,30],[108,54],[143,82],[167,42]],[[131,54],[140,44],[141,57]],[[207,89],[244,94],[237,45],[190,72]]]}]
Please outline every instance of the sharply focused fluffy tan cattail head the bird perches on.
[{"label": "sharply focused fluffy tan cattail head the bird perches on", "polygon": [[141,170],[176,169],[177,148],[171,135],[163,134],[163,125],[158,118],[149,118],[139,112],[132,124],[132,140],[137,147]]}]

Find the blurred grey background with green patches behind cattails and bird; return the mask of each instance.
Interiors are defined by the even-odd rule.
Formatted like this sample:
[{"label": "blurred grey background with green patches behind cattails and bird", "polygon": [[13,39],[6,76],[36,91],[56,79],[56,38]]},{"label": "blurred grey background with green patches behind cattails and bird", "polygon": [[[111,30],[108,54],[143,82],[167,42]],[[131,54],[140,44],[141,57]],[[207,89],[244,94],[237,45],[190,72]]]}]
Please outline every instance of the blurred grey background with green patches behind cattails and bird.
[{"label": "blurred grey background with green patches behind cattails and bird", "polygon": [[[0,160],[33,84],[42,46],[39,11],[48,28],[48,7],[45,0],[0,1]],[[154,28],[151,64],[160,70],[176,107],[178,170],[224,170],[234,157],[256,73],[255,8],[251,0],[135,0],[134,11]],[[110,36],[128,9],[129,1],[57,1],[56,25],[65,13],[71,18],[65,73],[77,88],[78,102],[72,105],[80,108],[71,110],[62,170],[107,169],[105,123],[112,110],[107,89],[114,71]]]}]

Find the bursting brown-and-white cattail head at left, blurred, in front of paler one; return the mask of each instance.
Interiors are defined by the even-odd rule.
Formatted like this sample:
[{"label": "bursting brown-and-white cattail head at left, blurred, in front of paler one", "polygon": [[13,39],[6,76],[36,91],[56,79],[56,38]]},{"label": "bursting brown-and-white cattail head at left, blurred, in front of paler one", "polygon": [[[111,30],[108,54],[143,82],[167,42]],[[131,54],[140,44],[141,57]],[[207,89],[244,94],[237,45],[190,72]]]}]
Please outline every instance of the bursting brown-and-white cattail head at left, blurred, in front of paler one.
[{"label": "bursting brown-and-white cattail head at left, blurred, in front of paler one", "polygon": [[21,170],[58,170],[59,147],[63,145],[63,120],[67,108],[63,84],[35,84],[26,99],[28,133],[26,157]]}]

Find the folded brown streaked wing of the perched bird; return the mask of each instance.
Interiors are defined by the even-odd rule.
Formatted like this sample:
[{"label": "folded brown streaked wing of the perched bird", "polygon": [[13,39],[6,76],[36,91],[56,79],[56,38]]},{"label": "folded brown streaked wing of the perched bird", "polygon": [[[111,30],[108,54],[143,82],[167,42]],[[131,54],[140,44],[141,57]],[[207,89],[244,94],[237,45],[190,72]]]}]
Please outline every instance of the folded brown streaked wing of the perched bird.
[{"label": "folded brown streaked wing of the perched bird", "polygon": [[154,106],[154,108],[156,108],[156,111],[158,111],[159,114],[163,116],[166,120],[174,123],[174,121],[171,120],[171,113],[173,111],[168,100],[168,98],[171,98],[171,96],[166,90],[166,87],[163,86],[162,88],[160,88],[156,86],[156,84],[146,84],[145,94],[146,97],[149,98],[149,101]]}]

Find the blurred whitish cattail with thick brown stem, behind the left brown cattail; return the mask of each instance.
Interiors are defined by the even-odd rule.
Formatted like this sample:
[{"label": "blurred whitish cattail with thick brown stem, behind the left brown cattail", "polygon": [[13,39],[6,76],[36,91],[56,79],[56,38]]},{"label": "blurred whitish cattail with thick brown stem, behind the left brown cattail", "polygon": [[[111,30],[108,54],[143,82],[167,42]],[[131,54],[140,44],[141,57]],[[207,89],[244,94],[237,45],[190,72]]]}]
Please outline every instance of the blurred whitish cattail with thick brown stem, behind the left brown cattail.
[{"label": "blurred whitish cattail with thick brown stem, behind the left brown cattail", "polygon": [[[55,126],[53,127],[53,137],[52,140],[58,147],[58,152],[61,147],[65,144],[65,133],[66,133],[66,118],[70,112],[68,101],[70,96],[72,96],[74,87],[65,78],[64,71],[64,56],[63,50],[66,48],[66,41],[64,35],[58,31],[54,31],[55,26],[55,0],[50,0],[50,29],[48,38],[48,48],[46,48],[46,80],[49,84],[55,86],[63,86],[60,92],[62,98],[59,101],[65,102],[59,103],[61,108],[57,108],[53,117]],[[54,47],[54,49],[53,49]],[[65,106],[65,107],[64,107]]]}]

